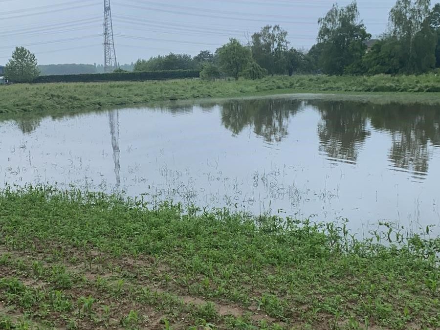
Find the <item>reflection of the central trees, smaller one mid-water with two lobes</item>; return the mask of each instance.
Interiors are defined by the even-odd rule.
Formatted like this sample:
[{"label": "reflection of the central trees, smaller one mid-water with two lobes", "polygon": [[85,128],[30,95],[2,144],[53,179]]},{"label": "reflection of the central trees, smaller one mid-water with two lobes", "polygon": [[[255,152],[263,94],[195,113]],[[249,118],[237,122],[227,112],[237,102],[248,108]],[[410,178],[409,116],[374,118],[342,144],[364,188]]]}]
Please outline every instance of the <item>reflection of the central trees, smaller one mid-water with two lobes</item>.
[{"label": "reflection of the central trees, smaller one mid-water with two lobes", "polygon": [[288,120],[303,106],[303,101],[255,99],[227,101],[221,106],[221,122],[234,134],[253,127],[267,142],[281,141],[287,136]]}]

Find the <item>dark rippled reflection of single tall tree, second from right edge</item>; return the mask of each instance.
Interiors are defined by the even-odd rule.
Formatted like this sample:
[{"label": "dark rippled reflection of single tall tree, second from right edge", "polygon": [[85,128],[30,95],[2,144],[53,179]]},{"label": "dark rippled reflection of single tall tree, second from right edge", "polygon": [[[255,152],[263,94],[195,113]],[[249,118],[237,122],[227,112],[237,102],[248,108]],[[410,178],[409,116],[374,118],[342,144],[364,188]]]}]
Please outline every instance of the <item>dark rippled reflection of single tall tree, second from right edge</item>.
[{"label": "dark rippled reflection of single tall tree, second from right edge", "polygon": [[329,157],[356,162],[359,147],[371,135],[365,129],[367,113],[353,102],[309,101],[321,113],[318,123],[319,150]]}]

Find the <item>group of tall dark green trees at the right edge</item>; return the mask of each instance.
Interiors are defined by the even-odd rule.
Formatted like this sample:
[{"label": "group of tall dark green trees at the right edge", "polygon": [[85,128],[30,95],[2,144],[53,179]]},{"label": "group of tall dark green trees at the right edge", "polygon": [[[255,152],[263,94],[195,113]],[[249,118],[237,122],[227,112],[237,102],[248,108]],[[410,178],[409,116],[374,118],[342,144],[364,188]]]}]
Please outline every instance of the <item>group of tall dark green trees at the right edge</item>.
[{"label": "group of tall dark green trees at the right edge", "polygon": [[319,20],[318,43],[308,55],[328,74],[418,74],[440,66],[440,4],[431,10],[429,0],[397,0],[389,23],[371,40],[356,2],[335,4]]}]

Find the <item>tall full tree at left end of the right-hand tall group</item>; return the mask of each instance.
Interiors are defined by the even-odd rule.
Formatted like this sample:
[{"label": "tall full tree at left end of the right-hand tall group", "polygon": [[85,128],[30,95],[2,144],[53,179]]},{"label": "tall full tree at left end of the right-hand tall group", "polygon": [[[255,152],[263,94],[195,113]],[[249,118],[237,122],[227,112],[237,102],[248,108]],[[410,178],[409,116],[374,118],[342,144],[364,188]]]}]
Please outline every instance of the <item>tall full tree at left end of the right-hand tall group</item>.
[{"label": "tall full tree at left end of the right-hand tall group", "polygon": [[318,43],[322,44],[319,64],[323,71],[329,74],[354,73],[367,50],[365,41],[371,38],[359,21],[356,1],[343,8],[333,4],[318,23]]}]

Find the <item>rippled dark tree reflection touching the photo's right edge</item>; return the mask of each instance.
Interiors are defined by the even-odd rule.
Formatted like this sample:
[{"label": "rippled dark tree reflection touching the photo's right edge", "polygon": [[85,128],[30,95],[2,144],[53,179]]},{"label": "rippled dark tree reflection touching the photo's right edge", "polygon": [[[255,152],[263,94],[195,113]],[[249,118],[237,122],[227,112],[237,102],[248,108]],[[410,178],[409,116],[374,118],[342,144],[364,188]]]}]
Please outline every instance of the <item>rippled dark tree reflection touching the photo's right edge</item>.
[{"label": "rippled dark tree reflection touching the photo's right edge", "polygon": [[428,142],[440,145],[440,108],[426,105],[392,104],[371,111],[372,126],[393,136],[389,158],[398,168],[428,172]]}]

